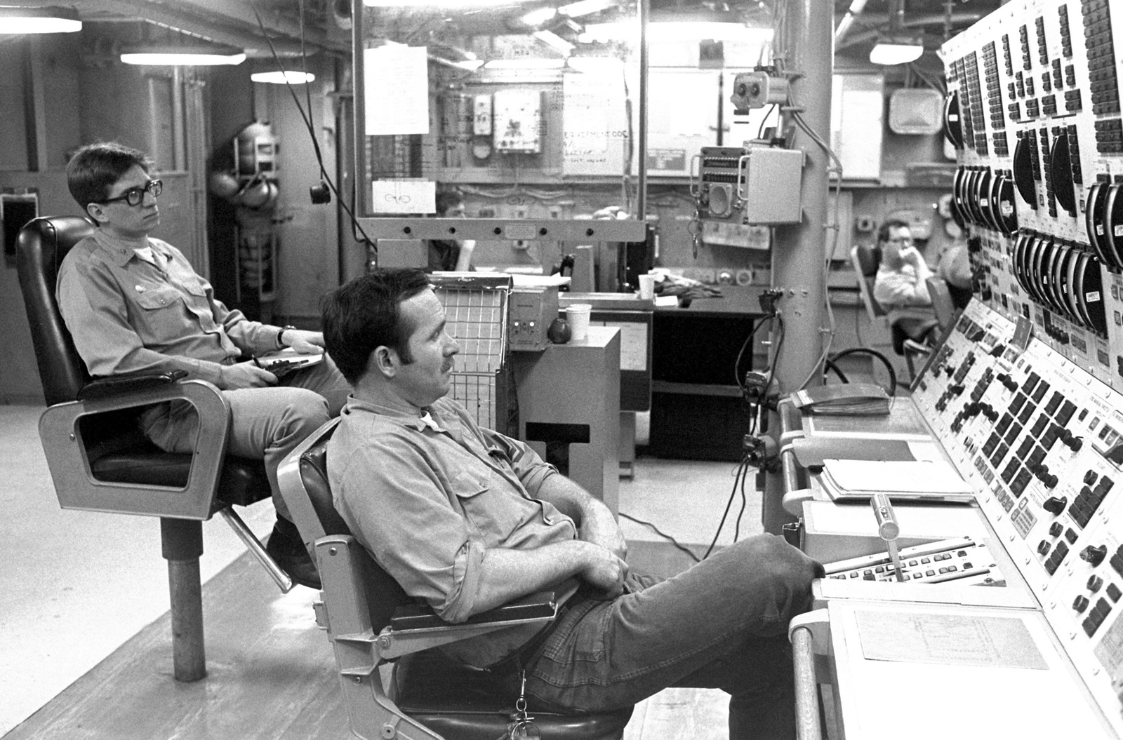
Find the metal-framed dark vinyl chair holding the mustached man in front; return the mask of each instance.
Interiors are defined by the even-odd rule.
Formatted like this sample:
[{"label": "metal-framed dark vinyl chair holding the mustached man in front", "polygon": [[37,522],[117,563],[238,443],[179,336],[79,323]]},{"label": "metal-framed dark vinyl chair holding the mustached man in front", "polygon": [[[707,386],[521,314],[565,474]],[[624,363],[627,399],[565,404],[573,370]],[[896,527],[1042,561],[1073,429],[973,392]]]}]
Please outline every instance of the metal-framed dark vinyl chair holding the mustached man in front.
[{"label": "metal-framed dark vinyl chair holding the mustached man in front", "polygon": [[[532,594],[464,624],[444,622],[407,596],[351,537],[332,504],[326,445],[337,422],[329,421],[293,450],[277,478],[305,546],[316,552],[323,584],[317,621],[335,648],[351,731],[360,738],[503,737],[518,695],[435,648],[510,625],[545,625],[565,592]],[[392,667],[389,691],[380,672],[386,666]],[[542,738],[610,740],[623,734],[632,707],[556,713],[531,705],[529,712]]]}]

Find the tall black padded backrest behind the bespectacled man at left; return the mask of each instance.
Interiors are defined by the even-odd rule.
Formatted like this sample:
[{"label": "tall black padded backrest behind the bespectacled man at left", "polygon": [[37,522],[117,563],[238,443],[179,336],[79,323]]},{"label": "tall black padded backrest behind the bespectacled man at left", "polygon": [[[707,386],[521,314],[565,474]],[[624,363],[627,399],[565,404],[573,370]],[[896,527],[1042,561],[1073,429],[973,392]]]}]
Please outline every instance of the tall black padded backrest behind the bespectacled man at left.
[{"label": "tall black padded backrest behind the bespectacled man at left", "polygon": [[73,401],[90,380],[58,311],[55,278],[66,253],[94,228],[76,216],[37,218],[16,241],[16,268],[47,405]]}]

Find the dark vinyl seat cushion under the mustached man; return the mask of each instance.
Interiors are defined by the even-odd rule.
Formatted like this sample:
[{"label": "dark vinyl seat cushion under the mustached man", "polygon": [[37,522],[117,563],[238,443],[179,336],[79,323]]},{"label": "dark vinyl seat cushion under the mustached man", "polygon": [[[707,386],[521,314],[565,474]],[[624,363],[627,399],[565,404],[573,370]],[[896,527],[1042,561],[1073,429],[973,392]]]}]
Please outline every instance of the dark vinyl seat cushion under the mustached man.
[{"label": "dark vinyl seat cushion under the mustached man", "polygon": [[[446,738],[495,740],[502,737],[514,711],[517,691],[477,668],[462,666],[439,650],[404,656],[394,680],[398,706],[414,720]],[[632,707],[596,713],[557,713],[535,706],[527,712],[544,738],[588,740],[618,737],[631,718]]]}]

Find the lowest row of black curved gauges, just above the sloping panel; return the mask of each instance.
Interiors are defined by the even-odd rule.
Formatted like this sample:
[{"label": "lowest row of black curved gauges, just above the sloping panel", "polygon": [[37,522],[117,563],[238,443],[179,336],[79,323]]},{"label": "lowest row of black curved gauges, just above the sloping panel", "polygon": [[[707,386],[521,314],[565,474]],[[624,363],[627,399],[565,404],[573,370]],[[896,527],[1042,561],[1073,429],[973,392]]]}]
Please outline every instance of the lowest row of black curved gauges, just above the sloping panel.
[{"label": "lowest row of black curved gauges, just above the sloping panel", "polygon": [[1107,332],[1101,263],[1089,252],[1046,234],[1022,231],[1014,276],[1038,303],[1101,335]]}]

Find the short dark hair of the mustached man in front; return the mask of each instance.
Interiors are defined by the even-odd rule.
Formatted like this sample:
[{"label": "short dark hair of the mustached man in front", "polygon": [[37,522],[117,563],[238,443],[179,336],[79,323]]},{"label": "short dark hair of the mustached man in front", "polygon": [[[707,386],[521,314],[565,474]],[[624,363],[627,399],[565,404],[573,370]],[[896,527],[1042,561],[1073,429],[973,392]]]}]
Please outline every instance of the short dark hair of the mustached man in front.
[{"label": "short dark hair of the mustached man in front", "polygon": [[325,349],[348,383],[358,382],[371,353],[383,345],[407,365],[413,362],[409,349],[413,327],[401,320],[401,303],[428,287],[423,271],[398,267],[375,269],[323,296]]}]

